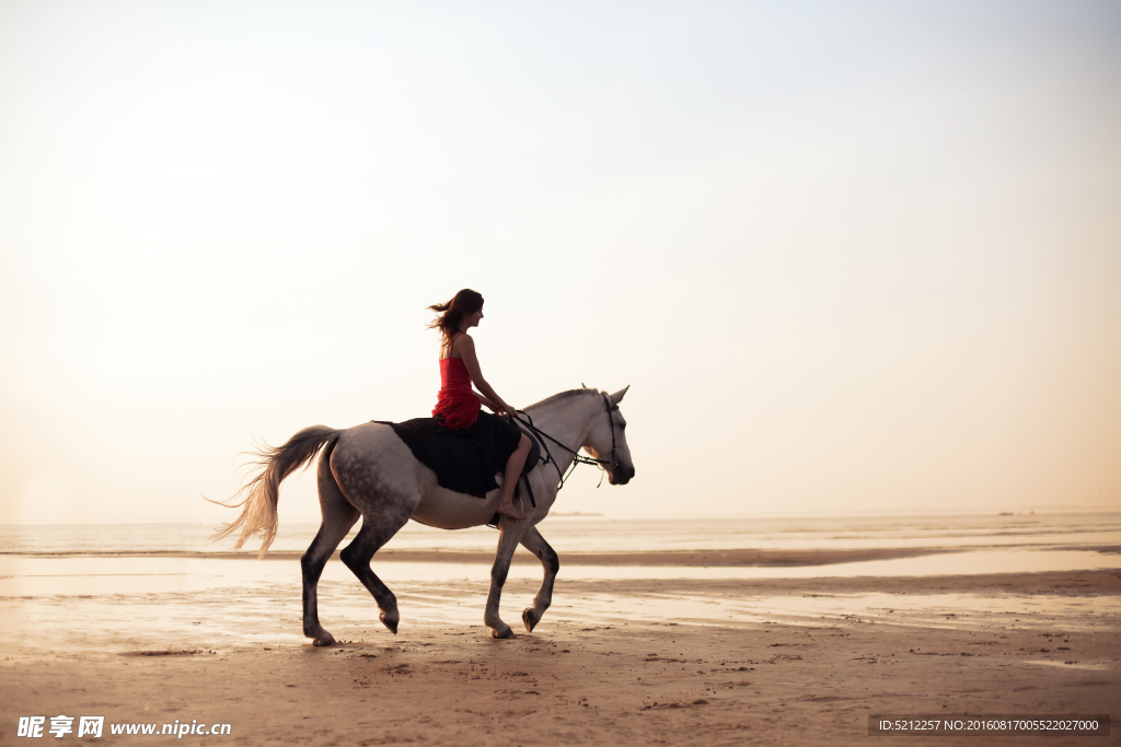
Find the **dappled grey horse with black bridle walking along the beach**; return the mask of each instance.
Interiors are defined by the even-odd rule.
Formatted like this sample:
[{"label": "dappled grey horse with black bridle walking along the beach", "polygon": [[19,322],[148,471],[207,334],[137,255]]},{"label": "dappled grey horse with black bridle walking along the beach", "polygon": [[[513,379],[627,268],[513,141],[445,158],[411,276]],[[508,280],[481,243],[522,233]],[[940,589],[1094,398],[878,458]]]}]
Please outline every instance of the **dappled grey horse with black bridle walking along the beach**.
[{"label": "dappled grey horse with black bridle walking along the beach", "polygon": [[[629,389],[629,387],[627,387]],[[539,438],[547,459],[524,473],[534,506],[521,501],[524,521],[508,516],[499,520],[498,550],[491,567],[490,594],[483,623],[495,638],[516,637],[499,617],[502,586],[510,570],[510,560],[520,543],[541,562],[544,578],[534,597],[534,606],[521,615],[527,632],[532,632],[553,599],[553,583],[560,562],[557,553],[537,531],[563,478],[558,477],[578,457],[583,448],[606,471],[611,485],[626,485],[634,477],[634,466],[627,446],[627,421],[619,411],[627,389],[614,394],[594,389],[576,389],[541,400],[525,410],[526,421]],[[485,498],[456,493],[441,487],[436,474],[421,464],[393,432],[389,424],[369,422],[344,430],[312,426],[293,436],[284,446],[253,451],[259,469],[229,502],[241,514],[219,529],[214,541],[240,531],[237,549],[253,535],[261,538],[260,555],[265,557],[276,538],[277,502],[280,484],[297,469],[311,465],[322,450],[318,464],[319,508],[323,522],[319,531],[300,558],[304,577],[304,635],[316,646],[334,645],[335,639],[321,624],[316,598],[319,576],[331,553],[362,517],[358,535],[340,553],[342,561],[370,591],[381,610],[379,618],[397,633],[400,615],[397,597],[371,570],[370,561],[406,523],[413,521],[438,529],[456,530],[481,526],[492,521],[500,491]],[[237,502],[239,495],[243,499]],[[217,502],[215,502],[217,503]]]}]

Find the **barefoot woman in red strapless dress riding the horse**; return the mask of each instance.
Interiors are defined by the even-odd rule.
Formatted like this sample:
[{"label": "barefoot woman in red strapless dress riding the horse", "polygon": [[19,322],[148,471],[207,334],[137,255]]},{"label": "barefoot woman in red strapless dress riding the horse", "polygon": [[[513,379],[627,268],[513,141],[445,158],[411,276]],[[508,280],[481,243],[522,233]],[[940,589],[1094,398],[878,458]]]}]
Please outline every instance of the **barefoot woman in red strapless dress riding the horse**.
[{"label": "barefoot woman in red strapless dress riding the horse", "polygon": [[[506,414],[512,418],[515,409],[483,379],[475,356],[475,343],[467,334],[467,329],[478,327],[483,318],[483,297],[464,288],[447,304],[435,304],[428,308],[439,314],[428,325],[429,329],[439,329],[444,337],[439,352],[439,398],[432,415],[444,428],[471,429],[469,436],[483,454],[497,451],[491,464],[506,461],[498,513],[521,521],[526,516],[513,507],[513,488],[526,464],[530,443],[517,426],[498,417]],[[482,394],[473,391],[472,384]],[[498,414],[481,412],[482,404]]]}]

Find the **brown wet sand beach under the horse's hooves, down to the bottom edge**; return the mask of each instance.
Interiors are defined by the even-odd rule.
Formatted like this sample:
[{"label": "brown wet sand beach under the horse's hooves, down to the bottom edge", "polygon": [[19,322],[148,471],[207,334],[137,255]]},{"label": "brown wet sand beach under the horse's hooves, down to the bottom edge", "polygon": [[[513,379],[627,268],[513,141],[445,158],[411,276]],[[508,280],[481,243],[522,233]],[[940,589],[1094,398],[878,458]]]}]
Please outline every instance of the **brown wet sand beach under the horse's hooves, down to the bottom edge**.
[{"label": "brown wet sand beach under the horse's hooves, down to the bottom edge", "polygon": [[[287,560],[239,560],[263,578],[213,589],[3,597],[0,743],[24,743],[19,716],[65,713],[230,723],[229,737],[183,738],[214,745],[899,744],[908,738],[869,737],[868,717],[1117,717],[1121,703],[1117,569],[580,580],[562,570],[537,629],[493,641],[481,625],[485,564],[443,581],[376,568],[398,596],[393,636],[333,562],[319,608],[343,643],[315,648]],[[503,617],[517,620],[536,589],[511,580]],[[109,744],[143,740],[108,731]],[[1121,740],[1112,734],[928,741]]]}]

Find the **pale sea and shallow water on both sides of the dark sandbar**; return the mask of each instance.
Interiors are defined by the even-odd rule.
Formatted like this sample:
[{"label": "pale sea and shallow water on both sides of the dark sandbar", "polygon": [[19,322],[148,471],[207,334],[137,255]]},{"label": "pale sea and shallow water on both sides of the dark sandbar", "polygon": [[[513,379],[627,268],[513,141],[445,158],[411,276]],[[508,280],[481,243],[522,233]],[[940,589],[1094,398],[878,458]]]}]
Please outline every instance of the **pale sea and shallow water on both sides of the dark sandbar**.
[{"label": "pale sea and shallow water on both sides of the dark sandbar", "polygon": [[[559,515],[549,516],[538,529],[560,555],[562,566],[566,553],[614,555],[610,566],[564,567],[563,576],[569,579],[819,578],[1121,569],[1121,512],[725,519]],[[281,522],[270,552],[303,552],[317,530],[313,523]],[[65,579],[74,575],[132,572],[145,576],[157,572],[158,568],[178,575],[186,568],[191,569],[188,576],[206,582],[214,569],[222,569],[230,578],[278,572],[275,568],[262,569],[260,563],[247,564],[257,557],[258,545],[252,542],[240,551],[242,559],[214,558],[213,553],[230,552],[233,540],[212,542],[213,532],[209,524],[2,525],[0,596],[13,587],[25,588],[33,577]],[[409,523],[387,549],[481,551],[474,562],[479,568],[465,573],[463,563],[397,560],[387,572],[415,581],[483,577],[489,564],[487,553],[495,549],[497,541],[498,532],[489,527],[446,531]],[[340,547],[345,543],[346,540]],[[837,562],[834,559],[734,567],[650,566],[627,559],[628,553],[650,551],[814,550],[822,551],[816,557],[823,557],[831,550],[884,548],[932,552],[887,560]],[[127,567],[113,562],[126,559],[131,559]],[[391,555],[380,560],[376,557],[374,564],[390,559]],[[132,570],[122,570],[126,568]],[[282,572],[290,573],[287,569]],[[528,566],[511,569],[511,578],[539,575],[539,568]]]}]

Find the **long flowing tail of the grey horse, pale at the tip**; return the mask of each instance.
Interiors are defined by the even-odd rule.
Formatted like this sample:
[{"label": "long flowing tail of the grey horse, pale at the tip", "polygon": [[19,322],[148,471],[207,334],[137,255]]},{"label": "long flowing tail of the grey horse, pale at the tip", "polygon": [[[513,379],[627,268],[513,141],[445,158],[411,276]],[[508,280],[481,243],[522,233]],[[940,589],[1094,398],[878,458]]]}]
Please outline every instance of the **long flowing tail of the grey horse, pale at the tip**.
[{"label": "long flowing tail of the grey horse, pale at the tip", "polygon": [[[241,507],[241,515],[229,524],[223,524],[214,534],[212,541],[224,539],[238,530],[241,536],[234,549],[240,549],[245,540],[259,534],[261,536],[261,558],[268,552],[269,545],[277,535],[277,502],[280,499],[280,483],[297,469],[307,467],[324,443],[333,443],[341,431],[326,426],[312,426],[299,431],[281,447],[274,448],[267,443],[250,454],[257,459],[250,464],[260,467],[238,494],[229,501],[211,501],[230,508]],[[238,496],[244,494],[241,501]],[[203,496],[205,497],[205,496]],[[210,498],[206,498],[210,501]]]}]

